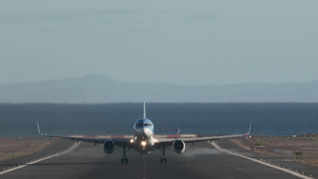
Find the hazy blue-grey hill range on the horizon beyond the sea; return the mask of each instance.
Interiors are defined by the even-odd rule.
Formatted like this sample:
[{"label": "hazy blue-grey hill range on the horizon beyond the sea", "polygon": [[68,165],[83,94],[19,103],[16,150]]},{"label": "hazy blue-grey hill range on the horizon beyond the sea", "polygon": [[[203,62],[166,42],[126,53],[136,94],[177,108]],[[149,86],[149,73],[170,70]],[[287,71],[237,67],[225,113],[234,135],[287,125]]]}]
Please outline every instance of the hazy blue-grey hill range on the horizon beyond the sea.
[{"label": "hazy blue-grey hill range on the horizon beyond the sea", "polygon": [[318,80],[306,83],[175,85],[127,83],[91,74],[38,83],[0,84],[1,103],[318,102]]}]

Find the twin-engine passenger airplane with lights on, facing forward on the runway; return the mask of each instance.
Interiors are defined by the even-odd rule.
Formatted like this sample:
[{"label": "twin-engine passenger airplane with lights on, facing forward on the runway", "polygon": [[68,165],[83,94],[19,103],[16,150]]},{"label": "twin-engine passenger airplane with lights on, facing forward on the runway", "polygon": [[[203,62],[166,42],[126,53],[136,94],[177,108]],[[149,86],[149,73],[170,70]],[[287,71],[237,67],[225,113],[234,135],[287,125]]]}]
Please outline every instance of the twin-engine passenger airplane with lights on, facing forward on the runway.
[{"label": "twin-engine passenger airplane with lights on, facing forward on the runway", "polygon": [[162,152],[162,157],[160,158],[160,163],[167,163],[166,158],[166,147],[172,146],[173,151],[177,154],[181,154],[185,151],[185,143],[202,142],[217,140],[221,138],[230,138],[230,137],[241,137],[246,136],[250,133],[251,122],[249,125],[249,131],[245,134],[235,134],[235,135],[222,135],[222,136],[210,136],[210,137],[192,137],[192,138],[154,138],[154,125],[153,123],[146,118],[146,107],[144,103],[143,108],[143,118],[137,120],[134,124],[134,137],[133,138],[86,138],[86,137],[71,137],[71,136],[61,136],[61,135],[50,135],[44,134],[40,131],[40,126],[38,122],[39,133],[47,137],[57,137],[57,138],[66,138],[71,140],[92,142],[95,145],[97,143],[103,144],[103,149],[106,154],[111,154],[115,150],[115,146],[123,148],[123,157],[121,158],[121,163],[128,164],[128,158],[126,157],[126,152],[131,148],[134,148],[140,154],[149,154],[155,148]]}]

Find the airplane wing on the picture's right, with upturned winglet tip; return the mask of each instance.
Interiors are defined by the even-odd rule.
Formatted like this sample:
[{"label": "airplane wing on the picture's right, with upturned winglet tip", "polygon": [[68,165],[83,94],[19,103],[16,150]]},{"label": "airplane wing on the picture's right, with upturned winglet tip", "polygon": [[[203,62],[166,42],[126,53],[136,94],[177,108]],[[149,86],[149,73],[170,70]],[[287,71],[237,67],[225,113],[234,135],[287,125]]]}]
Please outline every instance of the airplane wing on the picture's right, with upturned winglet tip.
[{"label": "airplane wing on the picture's right, with upturned winglet tip", "polygon": [[[177,139],[182,140],[184,143],[194,143],[194,142],[202,142],[202,141],[210,141],[211,142],[212,140],[217,140],[217,139],[222,139],[222,138],[246,136],[250,132],[251,124],[252,124],[252,122],[250,122],[248,133],[245,133],[245,134],[220,135],[220,136],[209,136],[209,137],[177,138]],[[157,142],[155,143],[156,147],[171,146],[173,144],[173,142],[176,140],[176,138],[157,138],[156,140],[157,140]]]}]

